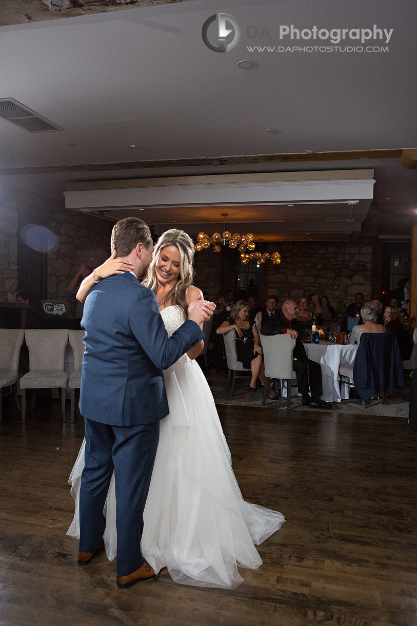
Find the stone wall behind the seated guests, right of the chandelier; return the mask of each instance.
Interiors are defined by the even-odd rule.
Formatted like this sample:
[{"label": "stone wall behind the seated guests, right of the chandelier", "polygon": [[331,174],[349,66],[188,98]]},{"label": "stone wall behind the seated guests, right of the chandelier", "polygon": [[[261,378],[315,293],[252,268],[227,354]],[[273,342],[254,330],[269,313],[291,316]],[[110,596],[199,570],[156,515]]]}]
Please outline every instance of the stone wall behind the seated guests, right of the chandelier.
[{"label": "stone wall behind the seated guests, right of the chandelier", "polygon": [[373,293],[377,258],[377,240],[360,238],[353,242],[292,242],[269,244],[278,249],[281,264],[267,263],[266,291],[277,294],[280,302],[316,291],[326,294],[339,311],[353,302],[361,291],[364,299]]}]

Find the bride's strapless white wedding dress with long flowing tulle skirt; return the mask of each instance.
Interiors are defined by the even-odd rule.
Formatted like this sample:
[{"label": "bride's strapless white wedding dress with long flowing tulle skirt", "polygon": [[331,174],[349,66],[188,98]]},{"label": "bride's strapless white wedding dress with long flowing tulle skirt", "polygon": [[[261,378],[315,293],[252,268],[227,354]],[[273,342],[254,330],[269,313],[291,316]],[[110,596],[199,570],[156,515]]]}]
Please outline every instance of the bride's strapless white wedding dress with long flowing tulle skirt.
[{"label": "bride's strapless white wedding dress with long flowing tulle skirt", "polygon": [[[161,312],[171,336],[183,322],[175,306]],[[232,471],[230,451],[210,387],[197,362],[184,354],[163,372],[170,414],[160,439],[144,513],[142,552],[155,572],[168,567],[183,585],[234,588],[237,566],[257,569],[254,543],[281,528],[277,511],[245,502]],[[138,398],[140,402],[140,398]],[[81,446],[70,476],[75,516],[68,535],[79,538],[78,495],[84,466]],[[105,506],[109,560],[116,557],[114,475]]]}]

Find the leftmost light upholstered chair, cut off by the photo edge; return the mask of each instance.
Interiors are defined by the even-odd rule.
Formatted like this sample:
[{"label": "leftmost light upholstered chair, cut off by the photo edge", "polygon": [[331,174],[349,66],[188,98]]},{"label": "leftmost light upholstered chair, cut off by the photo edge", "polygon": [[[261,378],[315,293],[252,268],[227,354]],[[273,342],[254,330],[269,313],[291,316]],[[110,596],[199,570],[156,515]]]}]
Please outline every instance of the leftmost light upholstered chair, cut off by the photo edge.
[{"label": "leftmost light upholstered chair, cut off by the photo edge", "polygon": [[17,391],[19,355],[23,344],[21,329],[0,329],[0,422],[3,404],[3,388],[13,386],[14,400],[20,411]]}]

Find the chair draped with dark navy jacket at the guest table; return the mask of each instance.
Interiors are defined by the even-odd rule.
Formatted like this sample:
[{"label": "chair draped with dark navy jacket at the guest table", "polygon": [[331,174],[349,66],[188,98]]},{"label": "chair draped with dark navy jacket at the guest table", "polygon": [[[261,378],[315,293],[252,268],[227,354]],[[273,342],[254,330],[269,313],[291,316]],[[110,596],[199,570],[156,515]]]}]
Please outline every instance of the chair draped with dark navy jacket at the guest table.
[{"label": "chair draped with dark navy jacket at the guest table", "polygon": [[[339,368],[341,382],[355,387],[362,406],[366,400],[381,393],[386,404],[385,390],[394,391],[403,386],[403,363],[398,341],[393,332],[363,332],[353,365]],[[353,379],[353,382],[352,382]]]}]

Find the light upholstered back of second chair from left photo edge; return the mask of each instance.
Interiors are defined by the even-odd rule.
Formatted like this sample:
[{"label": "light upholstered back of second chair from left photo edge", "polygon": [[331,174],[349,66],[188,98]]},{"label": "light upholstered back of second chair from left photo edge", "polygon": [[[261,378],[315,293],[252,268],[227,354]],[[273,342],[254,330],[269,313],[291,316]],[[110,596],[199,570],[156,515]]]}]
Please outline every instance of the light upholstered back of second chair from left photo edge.
[{"label": "light upholstered back of second chair from left photo edge", "polygon": [[64,354],[68,344],[67,329],[26,329],[24,341],[29,349],[31,372],[39,369],[64,371]]}]

